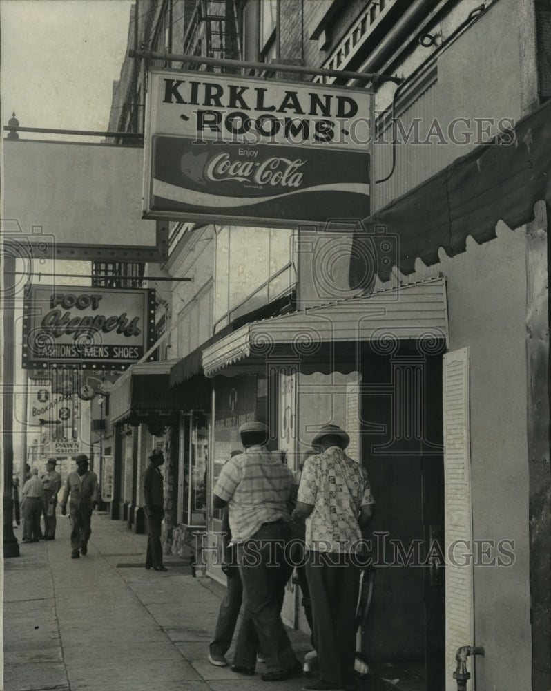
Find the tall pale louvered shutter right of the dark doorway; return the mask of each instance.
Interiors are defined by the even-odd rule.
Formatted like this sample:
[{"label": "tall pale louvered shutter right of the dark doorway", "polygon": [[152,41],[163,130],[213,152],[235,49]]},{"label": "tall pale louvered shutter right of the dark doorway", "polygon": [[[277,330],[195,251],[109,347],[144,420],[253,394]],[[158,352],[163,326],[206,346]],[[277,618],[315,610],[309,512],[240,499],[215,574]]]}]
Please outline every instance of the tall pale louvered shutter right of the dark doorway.
[{"label": "tall pale louvered shutter right of the dark doorway", "polygon": [[[443,357],[445,480],[445,691],[456,691],[452,673],[461,645],[474,645],[472,511],[470,480],[469,349]],[[469,665],[473,664],[470,658]],[[474,690],[474,674],[467,687]]]}]

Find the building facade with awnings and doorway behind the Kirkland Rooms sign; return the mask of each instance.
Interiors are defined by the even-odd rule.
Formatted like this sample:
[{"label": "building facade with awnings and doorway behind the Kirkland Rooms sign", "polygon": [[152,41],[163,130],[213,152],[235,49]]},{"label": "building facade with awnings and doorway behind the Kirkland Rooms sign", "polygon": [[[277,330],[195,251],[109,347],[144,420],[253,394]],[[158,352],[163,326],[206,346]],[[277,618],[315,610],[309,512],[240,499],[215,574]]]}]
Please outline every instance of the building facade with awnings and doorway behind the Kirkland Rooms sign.
[{"label": "building facade with awnings and doorway behind the Kirkland Rooms sign", "polygon": [[[131,15],[129,48],[361,86],[378,119],[367,218],[160,220],[168,261],[146,274],[173,282],[156,286],[157,361],[115,385],[117,500],[137,515],[146,451],[164,444],[167,549],[186,556],[204,533],[220,578],[212,491],[240,424],[267,422],[293,469],[317,426],[345,426],[377,501],[363,652],[427,691],[456,688],[456,656],[470,688],[550,687],[550,16],[543,0],[139,1]],[[125,59],[110,130],[143,131],[147,69],[170,66],[206,67]],[[283,614],[305,626],[292,584]]]}]

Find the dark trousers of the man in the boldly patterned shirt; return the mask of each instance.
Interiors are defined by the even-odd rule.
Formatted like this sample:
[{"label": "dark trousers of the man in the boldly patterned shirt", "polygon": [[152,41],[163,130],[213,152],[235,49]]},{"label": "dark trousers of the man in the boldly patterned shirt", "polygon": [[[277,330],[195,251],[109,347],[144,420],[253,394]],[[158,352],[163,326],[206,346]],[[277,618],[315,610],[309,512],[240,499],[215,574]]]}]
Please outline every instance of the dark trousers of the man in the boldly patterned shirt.
[{"label": "dark trousers of the man in the boldly patterned shirt", "polygon": [[360,571],[347,554],[311,551],[306,575],[320,680],[353,685]]}]

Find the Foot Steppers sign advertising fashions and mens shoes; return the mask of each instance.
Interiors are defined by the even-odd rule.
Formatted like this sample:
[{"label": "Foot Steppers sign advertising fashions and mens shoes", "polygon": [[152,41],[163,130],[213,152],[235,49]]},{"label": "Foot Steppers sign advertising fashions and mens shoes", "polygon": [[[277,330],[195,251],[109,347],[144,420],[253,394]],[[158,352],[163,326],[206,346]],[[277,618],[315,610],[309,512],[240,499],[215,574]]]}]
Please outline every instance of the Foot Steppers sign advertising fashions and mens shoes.
[{"label": "Foot Steppers sign advertising fashions and mens shoes", "polygon": [[155,342],[155,290],[31,285],[23,304],[23,368],[124,370]]}]

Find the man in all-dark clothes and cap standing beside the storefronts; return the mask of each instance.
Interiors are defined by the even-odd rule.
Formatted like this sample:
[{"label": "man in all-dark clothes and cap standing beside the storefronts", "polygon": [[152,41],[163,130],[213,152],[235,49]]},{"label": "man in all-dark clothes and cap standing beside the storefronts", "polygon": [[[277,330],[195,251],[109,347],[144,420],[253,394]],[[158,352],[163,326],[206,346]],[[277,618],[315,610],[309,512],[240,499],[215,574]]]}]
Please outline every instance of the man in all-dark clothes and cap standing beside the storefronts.
[{"label": "man in all-dark clothes and cap standing beside the storefronts", "polygon": [[160,448],[154,448],[149,454],[149,466],[144,473],[145,509],[149,525],[146,569],[151,569],[153,567],[154,571],[168,571],[168,569],[163,566],[163,551],[161,545],[164,497],[163,476],[159,468],[163,463],[163,452]]}]

